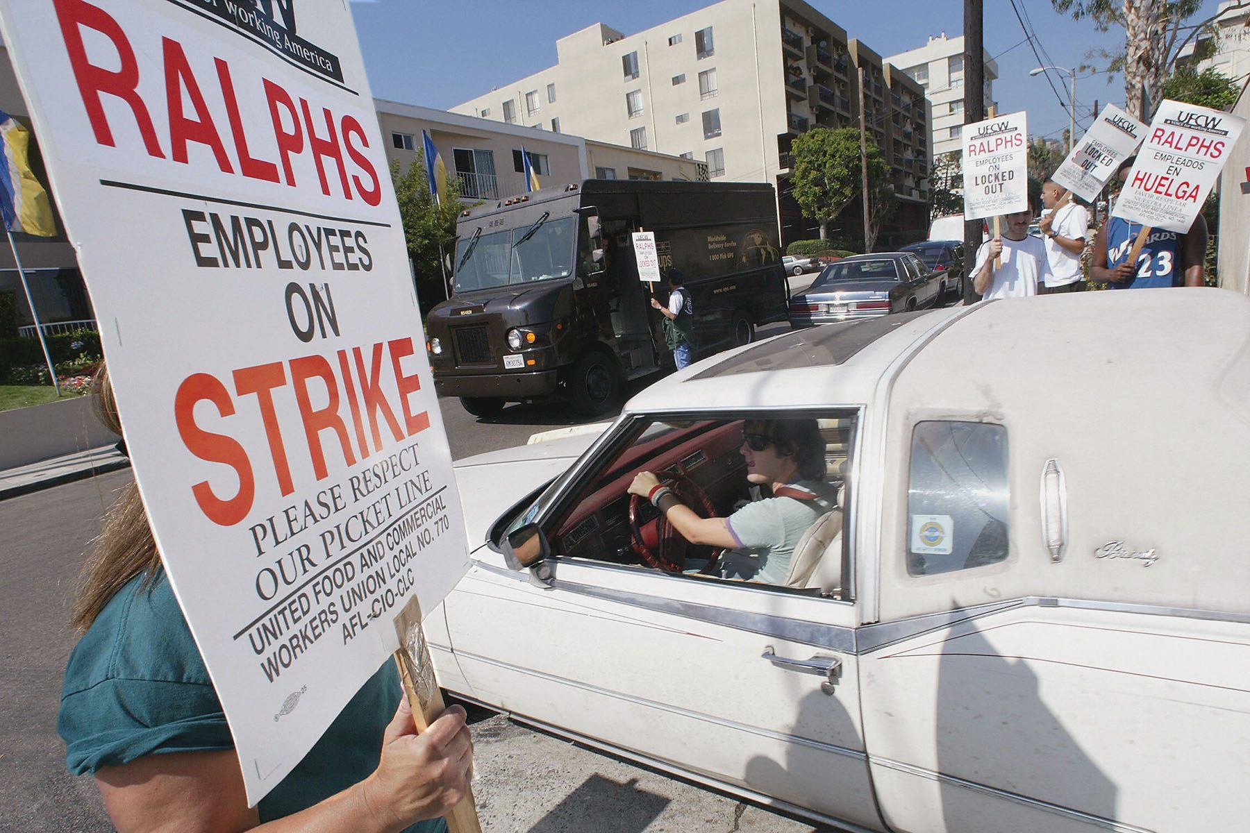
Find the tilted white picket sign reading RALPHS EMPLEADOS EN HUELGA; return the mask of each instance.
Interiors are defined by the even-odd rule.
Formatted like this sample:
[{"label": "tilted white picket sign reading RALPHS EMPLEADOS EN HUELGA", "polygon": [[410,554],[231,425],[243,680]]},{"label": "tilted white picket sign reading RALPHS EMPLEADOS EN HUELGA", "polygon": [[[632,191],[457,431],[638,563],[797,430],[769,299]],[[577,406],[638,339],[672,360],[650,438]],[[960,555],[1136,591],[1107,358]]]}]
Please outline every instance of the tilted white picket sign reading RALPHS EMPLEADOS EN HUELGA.
[{"label": "tilted white picket sign reading RALPHS EMPLEADOS EN HUELGA", "polygon": [[1111,215],[1189,231],[1244,125],[1228,112],[1161,101]]}]

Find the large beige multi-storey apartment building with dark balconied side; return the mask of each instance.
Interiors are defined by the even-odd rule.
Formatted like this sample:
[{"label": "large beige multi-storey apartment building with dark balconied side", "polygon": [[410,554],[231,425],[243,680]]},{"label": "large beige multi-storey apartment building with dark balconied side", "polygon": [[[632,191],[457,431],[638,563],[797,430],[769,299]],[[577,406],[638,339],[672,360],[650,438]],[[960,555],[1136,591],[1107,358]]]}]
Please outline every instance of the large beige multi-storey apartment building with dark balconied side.
[{"label": "large beige multi-storey apartment building with dark balconied side", "polygon": [[705,161],[711,179],[774,182],[785,240],[812,229],[789,199],[790,142],[859,125],[864,67],[868,125],[901,201],[895,225],[925,225],[924,90],[802,0],[722,0],[632,35],[600,22],[559,39],[556,57],[451,111]]}]

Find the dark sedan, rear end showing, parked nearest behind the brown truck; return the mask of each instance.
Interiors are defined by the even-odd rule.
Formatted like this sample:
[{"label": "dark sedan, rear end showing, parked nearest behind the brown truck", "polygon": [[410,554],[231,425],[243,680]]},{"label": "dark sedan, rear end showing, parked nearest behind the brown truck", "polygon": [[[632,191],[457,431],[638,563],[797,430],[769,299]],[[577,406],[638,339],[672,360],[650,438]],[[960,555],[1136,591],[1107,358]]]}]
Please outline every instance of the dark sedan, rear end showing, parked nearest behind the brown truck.
[{"label": "dark sedan, rear end showing, parked nearest behind the brown truck", "polygon": [[790,298],[790,326],[875,318],[941,302],[944,278],[915,252],[855,255],[830,264]]}]

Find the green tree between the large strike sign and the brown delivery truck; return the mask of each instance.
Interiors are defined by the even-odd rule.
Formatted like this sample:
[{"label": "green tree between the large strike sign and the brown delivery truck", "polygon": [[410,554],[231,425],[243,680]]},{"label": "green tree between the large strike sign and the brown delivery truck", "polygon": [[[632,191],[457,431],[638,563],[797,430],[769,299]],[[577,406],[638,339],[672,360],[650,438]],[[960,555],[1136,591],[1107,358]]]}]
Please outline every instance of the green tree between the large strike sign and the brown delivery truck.
[{"label": "green tree between the large strike sign and the brown delivery truck", "polygon": [[399,200],[399,216],[404,222],[404,240],[416,275],[416,300],[421,313],[448,297],[442,281],[442,255],[456,236],[456,217],[464,209],[460,202],[460,180],[448,177],[448,196],[441,205],[430,195],[425,165],[414,160],[401,172],[399,162],[391,164],[391,181]]}]

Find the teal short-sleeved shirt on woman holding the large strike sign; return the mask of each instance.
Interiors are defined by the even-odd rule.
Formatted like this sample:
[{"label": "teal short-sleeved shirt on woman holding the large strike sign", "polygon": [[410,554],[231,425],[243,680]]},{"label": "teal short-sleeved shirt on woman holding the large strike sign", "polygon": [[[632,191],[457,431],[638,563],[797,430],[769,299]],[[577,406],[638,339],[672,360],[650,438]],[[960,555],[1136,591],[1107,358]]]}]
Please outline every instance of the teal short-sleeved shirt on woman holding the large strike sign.
[{"label": "teal short-sleeved shirt on woman holding the large strike sign", "polygon": [[[75,776],[168,752],[232,749],[230,727],[161,573],[109,599],[70,653],[56,731]],[[321,739],[256,811],[270,822],[311,807],[378,768],[382,731],[399,706],[395,666],[384,664],[351,698]],[[409,833],[441,833],[442,819]]]}]

